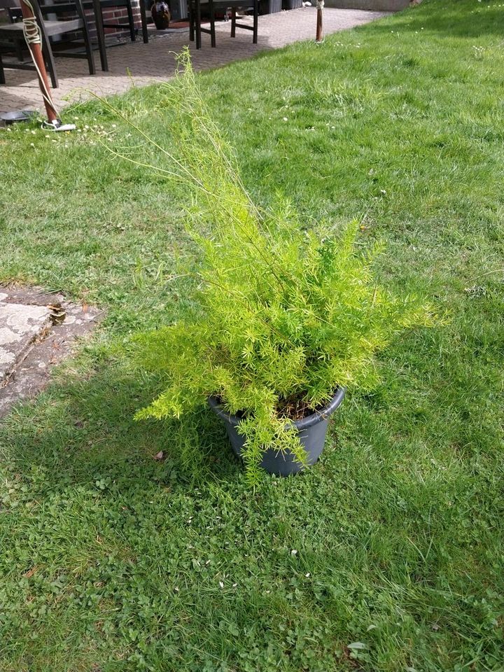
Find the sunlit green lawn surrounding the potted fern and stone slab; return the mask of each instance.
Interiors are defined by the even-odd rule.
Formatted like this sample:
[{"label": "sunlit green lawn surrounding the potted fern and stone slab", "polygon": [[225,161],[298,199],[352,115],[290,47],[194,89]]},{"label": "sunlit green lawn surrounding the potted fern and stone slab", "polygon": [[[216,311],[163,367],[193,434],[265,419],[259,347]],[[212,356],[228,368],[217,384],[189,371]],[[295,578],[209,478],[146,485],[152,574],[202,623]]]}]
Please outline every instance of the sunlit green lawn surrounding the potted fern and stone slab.
[{"label": "sunlit green lawn surrounding the potted fern and stone slab", "polygon": [[[123,343],[186,306],[183,190],[99,144],[141,155],[99,102],[66,111],[80,133],[0,133],[0,281],[106,309],[0,426],[1,672],[504,670],[499,1],[200,77],[256,200],[360,218],[379,281],[446,315],[349,391],[315,468],[255,491],[211,412],[132,420],[157,382]],[[169,142],[160,87],[116,104]]]}]

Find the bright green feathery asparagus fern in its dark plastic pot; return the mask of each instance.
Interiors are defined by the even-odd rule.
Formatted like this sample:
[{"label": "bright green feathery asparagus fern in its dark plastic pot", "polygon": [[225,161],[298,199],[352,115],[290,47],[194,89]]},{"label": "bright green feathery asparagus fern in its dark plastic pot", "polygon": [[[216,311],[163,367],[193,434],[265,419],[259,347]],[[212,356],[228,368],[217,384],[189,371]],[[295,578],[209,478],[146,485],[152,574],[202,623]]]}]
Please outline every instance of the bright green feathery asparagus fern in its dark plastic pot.
[{"label": "bright green feathery asparagus fern in its dark plastic pot", "polygon": [[193,186],[188,230],[200,249],[191,315],[141,335],[143,366],[164,391],[137,419],[210,405],[255,481],[316,461],[347,386],[374,379],[374,353],[403,328],[429,324],[428,306],[374,282],[379,249],[356,248],[359,226],[304,227],[279,199],[255,207],[202,101],[188,56],[168,85],[179,153],[169,167]]}]

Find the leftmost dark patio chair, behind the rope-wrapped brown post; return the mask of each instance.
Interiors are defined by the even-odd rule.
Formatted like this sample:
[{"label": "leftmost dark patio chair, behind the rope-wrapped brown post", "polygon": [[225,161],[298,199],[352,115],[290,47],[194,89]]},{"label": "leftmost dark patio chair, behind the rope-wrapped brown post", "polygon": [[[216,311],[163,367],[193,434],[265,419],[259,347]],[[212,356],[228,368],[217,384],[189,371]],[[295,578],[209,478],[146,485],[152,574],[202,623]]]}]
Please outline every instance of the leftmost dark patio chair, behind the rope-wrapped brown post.
[{"label": "leftmost dark patio chair, behind the rope-wrapped brown post", "polygon": [[[57,88],[58,80],[55,67],[55,56],[67,58],[85,58],[89,66],[90,75],[94,75],[94,58],[90,39],[89,27],[84,14],[82,0],[57,3],[54,5],[38,5],[36,0],[30,0],[34,8],[38,27],[41,29],[42,53],[45,65],[49,71],[52,87]],[[19,10],[18,0],[0,0],[0,8]],[[62,20],[48,20],[45,17],[57,15]],[[69,15],[71,18],[69,18]],[[11,13],[11,18],[16,18],[16,13]],[[84,51],[75,50],[75,35],[82,36]],[[54,36],[70,36],[68,42],[72,44],[71,50],[52,50],[50,38]],[[24,59],[20,45],[25,46],[22,22],[0,25],[0,84],[5,84],[5,69],[34,70],[31,59]],[[59,46],[59,45],[58,45]],[[17,59],[3,60],[3,53],[14,52]]]}]

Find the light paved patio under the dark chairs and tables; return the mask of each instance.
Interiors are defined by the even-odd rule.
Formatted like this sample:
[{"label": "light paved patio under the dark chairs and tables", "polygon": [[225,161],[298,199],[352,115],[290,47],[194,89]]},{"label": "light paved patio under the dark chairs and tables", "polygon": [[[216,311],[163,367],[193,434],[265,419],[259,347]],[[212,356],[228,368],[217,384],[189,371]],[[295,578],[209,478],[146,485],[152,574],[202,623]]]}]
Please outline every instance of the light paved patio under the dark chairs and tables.
[{"label": "light paved patio under the dark chairs and tables", "polygon": [[[325,9],[325,34],[352,28],[374,21],[386,12],[351,9]],[[251,20],[251,18],[249,18]],[[263,15],[259,18],[258,44],[252,43],[249,31],[237,30],[237,37],[230,37],[230,23],[217,24],[217,47],[210,46],[210,36],[202,36],[202,49],[190,43],[193,66],[197,70],[216,68],[232,61],[253,56],[262,50],[276,49],[287,44],[314,40],[316,9],[305,7],[288,12]],[[169,79],[175,69],[174,53],[189,44],[188,29],[162,33],[152,31],[148,44],[141,38],[114,46],[107,50],[109,72],[99,69],[99,55],[94,52],[97,74],[90,76],[87,64],[81,59],[57,59],[59,88],[54,90],[57,106],[75,102],[89,96],[86,90],[102,95],[120,93],[132,85],[146,85]],[[41,94],[34,73],[6,70],[7,85],[0,85],[0,113],[20,109],[41,109]]]}]

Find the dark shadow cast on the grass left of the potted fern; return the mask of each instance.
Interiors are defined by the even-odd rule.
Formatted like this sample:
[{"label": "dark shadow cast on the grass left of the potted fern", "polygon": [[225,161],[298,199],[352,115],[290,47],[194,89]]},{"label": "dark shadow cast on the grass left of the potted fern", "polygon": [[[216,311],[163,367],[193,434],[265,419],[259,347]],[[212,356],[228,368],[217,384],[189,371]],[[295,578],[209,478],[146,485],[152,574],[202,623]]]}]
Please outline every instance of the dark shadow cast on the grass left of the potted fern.
[{"label": "dark shadow cast on the grass left of the potted fern", "polygon": [[6,419],[0,446],[8,447],[16,471],[42,468],[56,489],[102,479],[187,489],[241,474],[209,408],[197,407],[180,420],[135,421],[134,412],[155,393],[152,381],[117,365],[54,384]]}]

